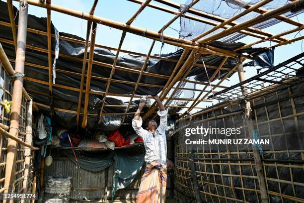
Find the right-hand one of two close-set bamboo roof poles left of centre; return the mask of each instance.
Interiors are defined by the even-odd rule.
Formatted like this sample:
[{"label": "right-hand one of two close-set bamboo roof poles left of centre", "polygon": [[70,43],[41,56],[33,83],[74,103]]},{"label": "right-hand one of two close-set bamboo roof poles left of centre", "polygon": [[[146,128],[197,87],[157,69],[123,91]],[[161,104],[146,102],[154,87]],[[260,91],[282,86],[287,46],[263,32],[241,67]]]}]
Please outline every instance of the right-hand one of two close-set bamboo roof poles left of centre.
[{"label": "right-hand one of two close-set bamboo roof poles left of centre", "polygon": [[89,101],[89,88],[91,82],[91,73],[92,73],[92,65],[93,65],[93,56],[94,56],[94,46],[95,46],[95,37],[96,37],[96,29],[97,24],[93,23],[92,26],[92,34],[91,34],[91,44],[90,44],[90,52],[89,52],[89,61],[87,65],[87,77],[86,77],[86,85],[85,85],[85,99],[84,99],[84,107],[83,107],[83,119],[81,127],[86,126],[87,122],[87,106]]}]

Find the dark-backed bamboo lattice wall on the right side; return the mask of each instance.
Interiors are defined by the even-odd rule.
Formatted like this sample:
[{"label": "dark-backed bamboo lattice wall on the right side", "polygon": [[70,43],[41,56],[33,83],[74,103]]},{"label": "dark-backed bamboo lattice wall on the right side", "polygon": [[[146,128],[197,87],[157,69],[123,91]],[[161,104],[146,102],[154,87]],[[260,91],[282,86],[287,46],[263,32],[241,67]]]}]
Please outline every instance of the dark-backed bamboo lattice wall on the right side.
[{"label": "dark-backed bamboo lattice wall on the right side", "polygon": [[[254,127],[258,129],[261,139],[271,140],[272,149],[264,150],[261,158],[268,198],[272,203],[304,202],[304,146],[300,144],[291,148],[287,141],[284,142],[296,140],[295,143],[303,143],[303,90],[302,83],[251,101]],[[242,126],[248,137],[245,122],[240,120],[242,109],[238,104],[220,108],[212,106],[193,117],[194,122],[211,127]],[[290,133],[290,128],[294,129],[294,133]],[[179,202],[197,202],[194,179],[191,177],[191,158],[195,163],[199,194],[203,202],[261,202],[250,148],[231,150],[226,145],[210,150],[198,145],[186,145],[185,139],[183,131],[175,135],[175,199]],[[278,140],[286,145],[284,150],[276,150]]]}]

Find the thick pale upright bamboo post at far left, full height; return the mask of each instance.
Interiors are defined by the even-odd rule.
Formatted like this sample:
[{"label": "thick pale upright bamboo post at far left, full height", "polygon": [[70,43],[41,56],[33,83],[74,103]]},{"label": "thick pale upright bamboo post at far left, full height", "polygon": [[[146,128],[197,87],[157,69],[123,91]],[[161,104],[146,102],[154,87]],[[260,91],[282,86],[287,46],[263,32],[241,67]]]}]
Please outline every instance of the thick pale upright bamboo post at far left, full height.
[{"label": "thick pale upright bamboo post at far left, full height", "polygon": [[[26,28],[27,28],[27,10],[28,4],[26,0],[20,0],[19,6],[19,23],[18,23],[18,35],[17,35],[17,51],[15,61],[15,72],[17,77],[13,85],[12,105],[10,113],[10,126],[9,134],[18,136],[19,129],[19,117],[22,102],[23,91],[23,73],[24,73],[24,61],[25,61],[25,47],[26,47]],[[11,193],[15,187],[15,173],[16,173],[16,151],[17,142],[8,139],[7,140],[7,152],[6,152],[6,168],[5,168],[5,181],[4,181],[4,193]]]}]

